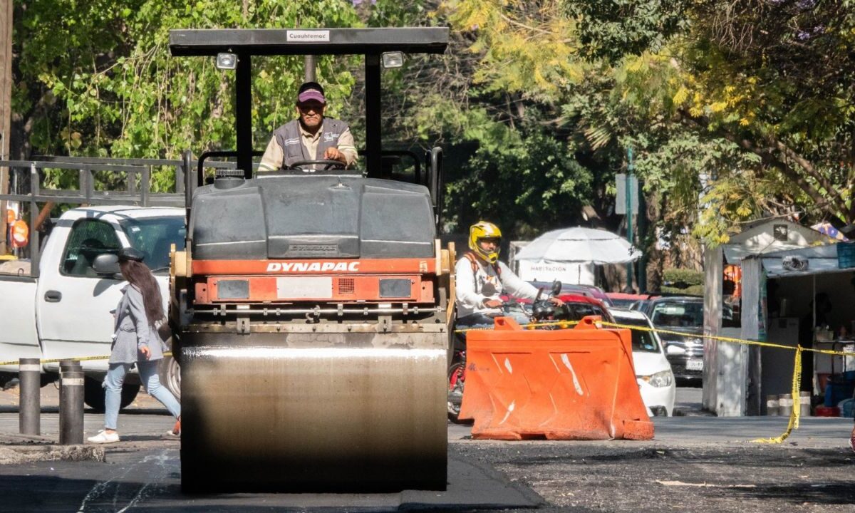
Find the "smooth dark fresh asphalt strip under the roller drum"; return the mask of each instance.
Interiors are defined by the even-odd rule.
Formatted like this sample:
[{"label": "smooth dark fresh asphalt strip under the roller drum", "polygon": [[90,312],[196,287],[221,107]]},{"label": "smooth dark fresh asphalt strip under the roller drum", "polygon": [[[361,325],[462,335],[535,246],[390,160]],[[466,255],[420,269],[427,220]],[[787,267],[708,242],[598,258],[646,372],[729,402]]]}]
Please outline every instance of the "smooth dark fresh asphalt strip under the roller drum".
[{"label": "smooth dark fresh asphalt strip under the roller drum", "polygon": [[[236,493],[185,495],[179,451],[109,451],[106,463],[38,462],[0,467],[0,496],[10,511],[400,511],[520,510],[542,499],[489,464],[450,446],[448,487],[400,493]],[[417,464],[417,463],[416,463]]]}]

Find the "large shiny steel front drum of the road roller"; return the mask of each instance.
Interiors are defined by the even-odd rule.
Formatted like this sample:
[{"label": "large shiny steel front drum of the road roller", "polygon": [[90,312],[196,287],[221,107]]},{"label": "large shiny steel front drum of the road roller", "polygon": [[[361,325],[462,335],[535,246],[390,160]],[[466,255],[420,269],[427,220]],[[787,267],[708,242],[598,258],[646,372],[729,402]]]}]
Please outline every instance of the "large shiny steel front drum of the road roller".
[{"label": "large shiny steel front drum of the road roller", "polygon": [[186,492],[444,490],[446,333],[186,333]]}]

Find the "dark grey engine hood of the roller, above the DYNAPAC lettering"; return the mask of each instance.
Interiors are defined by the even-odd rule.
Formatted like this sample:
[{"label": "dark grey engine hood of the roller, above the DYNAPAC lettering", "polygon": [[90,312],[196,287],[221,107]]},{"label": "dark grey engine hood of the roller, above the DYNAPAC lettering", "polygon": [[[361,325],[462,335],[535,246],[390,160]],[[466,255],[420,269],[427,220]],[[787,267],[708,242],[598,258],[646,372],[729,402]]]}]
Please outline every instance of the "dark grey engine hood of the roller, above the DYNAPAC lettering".
[{"label": "dark grey engine hood of the roller, above the DYNAPAC lettering", "polygon": [[436,236],[427,187],[328,174],[199,187],[190,230],[198,260],[429,258]]}]

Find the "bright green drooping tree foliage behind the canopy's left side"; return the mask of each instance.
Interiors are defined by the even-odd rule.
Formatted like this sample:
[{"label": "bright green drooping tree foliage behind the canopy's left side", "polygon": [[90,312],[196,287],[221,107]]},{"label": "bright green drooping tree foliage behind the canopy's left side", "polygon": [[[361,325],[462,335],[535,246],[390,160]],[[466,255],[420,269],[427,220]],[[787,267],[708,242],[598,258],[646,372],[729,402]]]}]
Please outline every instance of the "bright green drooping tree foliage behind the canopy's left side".
[{"label": "bright green drooping tree foliage behind the canopy's left side", "polygon": [[[340,0],[20,3],[15,110],[21,150],[32,144],[46,153],[175,157],[186,149],[233,148],[233,76],[209,58],[169,56],[170,29],[358,24],[352,3]],[[351,94],[345,63],[322,58],[318,67],[333,115]],[[270,131],[293,116],[302,59],[257,58],[253,75],[254,138],[266,144]]]}]

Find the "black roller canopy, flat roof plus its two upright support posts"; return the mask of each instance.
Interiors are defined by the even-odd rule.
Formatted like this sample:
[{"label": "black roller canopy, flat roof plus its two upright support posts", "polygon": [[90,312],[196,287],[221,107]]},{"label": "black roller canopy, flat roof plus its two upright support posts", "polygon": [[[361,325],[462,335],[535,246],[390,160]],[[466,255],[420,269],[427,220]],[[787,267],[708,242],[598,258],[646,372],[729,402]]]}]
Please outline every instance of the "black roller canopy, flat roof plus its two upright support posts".
[{"label": "black roller canopy, flat roof plus its two upright support posts", "polygon": [[173,56],[238,56],[235,69],[235,130],[238,168],[252,173],[252,56],[365,56],[365,160],[369,176],[380,172],[380,55],[387,51],[441,54],[447,27],[203,29],[169,31]]}]

